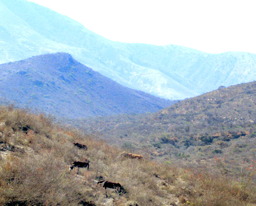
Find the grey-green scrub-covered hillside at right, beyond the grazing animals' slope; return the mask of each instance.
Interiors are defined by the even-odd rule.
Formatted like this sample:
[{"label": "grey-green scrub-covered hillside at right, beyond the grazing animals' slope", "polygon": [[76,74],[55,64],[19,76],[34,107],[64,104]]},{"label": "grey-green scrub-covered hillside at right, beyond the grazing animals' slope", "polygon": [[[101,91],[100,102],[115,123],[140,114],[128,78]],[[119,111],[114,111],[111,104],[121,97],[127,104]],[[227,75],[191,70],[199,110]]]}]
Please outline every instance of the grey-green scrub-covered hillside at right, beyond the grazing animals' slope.
[{"label": "grey-green scrub-covered hillside at right, beyond the grazing animals' slope", "polygon": [[73,123],[129,151],[147,151],[152,158],[208,165],[218,155],[241,162],[256,158],[255,102],[256,82],[251,82],[221,87],[154,114]]}]

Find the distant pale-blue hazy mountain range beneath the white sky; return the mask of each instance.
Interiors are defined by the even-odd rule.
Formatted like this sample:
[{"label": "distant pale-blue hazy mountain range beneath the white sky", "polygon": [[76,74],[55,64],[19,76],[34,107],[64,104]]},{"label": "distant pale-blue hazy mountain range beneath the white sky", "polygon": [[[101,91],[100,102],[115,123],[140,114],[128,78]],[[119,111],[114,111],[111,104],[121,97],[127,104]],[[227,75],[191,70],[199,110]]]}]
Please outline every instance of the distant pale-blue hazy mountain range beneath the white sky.
[{"label": "distant pale-blue hazy mountain range beneath the white sky", "polygon": [[0,0],[0,63],[67,52],[123,86],[177,100],[256,79],[256,55],[110,41],[26,0]]}]

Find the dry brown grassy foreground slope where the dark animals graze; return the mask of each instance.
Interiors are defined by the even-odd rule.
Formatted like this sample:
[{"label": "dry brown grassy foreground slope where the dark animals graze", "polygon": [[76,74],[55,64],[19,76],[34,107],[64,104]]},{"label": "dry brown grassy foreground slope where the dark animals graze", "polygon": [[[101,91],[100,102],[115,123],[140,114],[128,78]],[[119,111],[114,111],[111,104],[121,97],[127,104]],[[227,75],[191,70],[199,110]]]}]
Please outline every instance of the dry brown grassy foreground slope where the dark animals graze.
[{"label": "dry brown grassy foreground slope where the dark animals graze", "polygon": [[[75,148],[73,142],[87,145]],[[4,206],[256,206],[251,178],[226,177],[217,166],[189,169],[170,162],[121,158],[123,150],[80,131],[63,128],[42,114],[0,106],[0,205]],[[90,169],[69,171],[74,161]],[[126,194],[106,198],[99,179],[119,182]]]}]

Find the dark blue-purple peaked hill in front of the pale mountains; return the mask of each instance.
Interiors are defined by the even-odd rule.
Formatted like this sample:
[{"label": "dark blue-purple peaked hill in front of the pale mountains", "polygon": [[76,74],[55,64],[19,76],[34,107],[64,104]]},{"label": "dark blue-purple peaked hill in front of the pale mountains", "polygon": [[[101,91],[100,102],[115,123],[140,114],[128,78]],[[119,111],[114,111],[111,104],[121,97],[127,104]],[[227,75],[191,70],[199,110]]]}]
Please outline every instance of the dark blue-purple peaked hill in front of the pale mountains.
[{"label": "dark blue-purple peaked hill in front of the pale mountains", "polygon": [[153,112],[171,101],[123,87],[67,53],[0,65],[0,98],[61,118]]}]

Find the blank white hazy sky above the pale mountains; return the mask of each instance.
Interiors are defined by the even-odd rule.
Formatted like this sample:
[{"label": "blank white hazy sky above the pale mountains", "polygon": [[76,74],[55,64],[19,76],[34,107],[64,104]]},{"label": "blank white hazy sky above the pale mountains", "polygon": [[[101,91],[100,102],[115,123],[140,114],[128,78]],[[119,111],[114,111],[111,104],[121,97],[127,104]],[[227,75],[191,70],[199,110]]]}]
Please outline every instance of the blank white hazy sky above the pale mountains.
[{"label": "blank white hazy sky above the pale mountains", "polygon": [[256,54],[255,0],[29,0],[113,41]]}]

